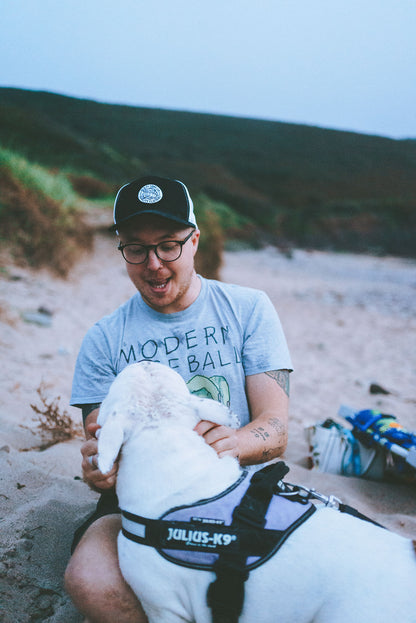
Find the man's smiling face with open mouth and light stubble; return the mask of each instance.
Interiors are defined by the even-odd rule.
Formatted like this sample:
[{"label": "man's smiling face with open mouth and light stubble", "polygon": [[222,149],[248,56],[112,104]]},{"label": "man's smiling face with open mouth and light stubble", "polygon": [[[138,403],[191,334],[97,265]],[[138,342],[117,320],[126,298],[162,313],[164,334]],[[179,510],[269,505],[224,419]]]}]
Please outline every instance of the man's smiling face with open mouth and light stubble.
[{"label": "man's smiling face with open mouth and light stubble", "polygon": [[[119,230],[120,242],[143,245],[167,240],[184,240],[192,228],[182,227],[168,219],[152,214],[132,218]],[[126,262],[127,273],[144,301],[156,311],[171,314],[189,307],[200,290],[194,270],[194,255],[198,248],[199,231],[183,245],[182,254],[174,262],[163,262],[154,249],[143,264]]]}]

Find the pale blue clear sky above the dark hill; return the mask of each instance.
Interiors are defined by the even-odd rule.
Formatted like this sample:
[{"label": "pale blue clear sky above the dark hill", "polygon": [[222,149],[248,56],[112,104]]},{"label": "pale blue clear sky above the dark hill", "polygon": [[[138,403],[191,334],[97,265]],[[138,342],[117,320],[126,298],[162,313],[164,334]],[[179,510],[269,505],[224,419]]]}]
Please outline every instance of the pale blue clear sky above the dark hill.
[{"label": "pale blue clear sky above the dark hill", "polygon": [[0,0],[0,86],[416,138],[416,0]]}]

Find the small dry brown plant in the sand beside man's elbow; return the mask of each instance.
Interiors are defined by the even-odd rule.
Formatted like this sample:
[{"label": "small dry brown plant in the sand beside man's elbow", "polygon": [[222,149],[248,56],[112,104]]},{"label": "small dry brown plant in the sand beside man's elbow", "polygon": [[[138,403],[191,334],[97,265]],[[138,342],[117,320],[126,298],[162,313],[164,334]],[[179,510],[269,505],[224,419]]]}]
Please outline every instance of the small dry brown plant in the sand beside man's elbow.
[{"label": "small dry brown plant in the sand beside man's elbow", "polygon": [[[68,441],[75,437],[82,436],[82,427],[80,424],[76,424],[71,419],[71,416],[67,411],[61,412],[59,401],[60,396],[53,398],[52,400],[46,396],[46,386],[41,383],[36,390],[41,406],[31,404],[33,411],[36,413],[34,422],[37,422],[37,429],[40,431],[42,443],[37,446],[39,450],[46,450],[50,446],[60,443],[62,441]],[[24,428],[29,428],[25,426]],[[35,434],[36,431],[29,428],[29,430]]]}]

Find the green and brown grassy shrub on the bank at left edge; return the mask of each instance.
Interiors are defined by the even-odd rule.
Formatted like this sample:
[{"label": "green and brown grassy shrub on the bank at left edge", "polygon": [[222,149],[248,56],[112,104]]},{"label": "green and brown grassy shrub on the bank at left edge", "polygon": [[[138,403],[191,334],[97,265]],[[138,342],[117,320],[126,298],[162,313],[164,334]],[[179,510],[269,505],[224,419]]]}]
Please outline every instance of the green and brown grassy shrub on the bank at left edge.
[{"label": "green and brown grassy shrub on the bank at left edge", "polygon": [[17,262],[65,277],[92,244],[68,180],[0,150],[0,187],[0,242]]}]

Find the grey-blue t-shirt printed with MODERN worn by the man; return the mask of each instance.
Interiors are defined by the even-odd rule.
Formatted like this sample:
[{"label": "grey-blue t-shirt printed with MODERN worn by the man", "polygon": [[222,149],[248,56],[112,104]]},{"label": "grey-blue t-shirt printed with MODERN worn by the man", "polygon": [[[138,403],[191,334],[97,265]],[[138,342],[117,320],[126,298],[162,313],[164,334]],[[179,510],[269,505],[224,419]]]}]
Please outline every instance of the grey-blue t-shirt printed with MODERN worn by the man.
[{"label": "grey-blue t-shirt printed with MODERN worn by the man", "polygon": [[200,279],[198,298],[181,312],[157,312],[137,292],[99,320],[81,345],[71,404],[102,402],[125,366],[151,360],[175,369],[192,393],[227,404],[247,424],[245,377],[292,369],[280,320],[264,292]]}]

